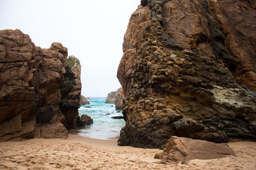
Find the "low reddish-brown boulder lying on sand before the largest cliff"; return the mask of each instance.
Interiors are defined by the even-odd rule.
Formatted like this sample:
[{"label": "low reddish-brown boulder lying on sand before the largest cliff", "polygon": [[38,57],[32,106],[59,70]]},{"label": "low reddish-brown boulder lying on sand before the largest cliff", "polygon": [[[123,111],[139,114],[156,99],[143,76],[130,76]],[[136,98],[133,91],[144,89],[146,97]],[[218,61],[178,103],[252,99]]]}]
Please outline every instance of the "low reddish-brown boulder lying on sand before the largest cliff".
[{"label": "low reddish-brown boulder lying on sand before the largest cliff", "polygon": [[164,151],[157,153],[154,158],[162,159],[163,163],[188,164],[193,159],[220,159],[228,155],[236,154],[227,144],[172,136]]}]

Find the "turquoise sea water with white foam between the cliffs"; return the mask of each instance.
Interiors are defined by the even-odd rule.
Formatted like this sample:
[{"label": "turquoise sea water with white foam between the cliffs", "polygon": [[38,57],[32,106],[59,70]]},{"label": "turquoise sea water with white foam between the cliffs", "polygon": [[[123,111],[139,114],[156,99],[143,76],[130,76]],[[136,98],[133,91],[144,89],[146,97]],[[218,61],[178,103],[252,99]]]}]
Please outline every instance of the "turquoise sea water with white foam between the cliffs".
[{"label": "turquoise sea water with white foam between the cliffs", "polygon": [[[86,125],[83,129],[79,129],[78,135],[95,138],[95,139],[116,139],[119,137],[120,130],[125,125],[124,119],[114,119],[111,117],[123,116],[122,113],[117,113],[115,104],[105,103],[106,97],[90,97],[91,108],[81,106],[79,115],[86,114],[93,119],[92,125]],[[110,113],[110,115],[106,115]]]}]

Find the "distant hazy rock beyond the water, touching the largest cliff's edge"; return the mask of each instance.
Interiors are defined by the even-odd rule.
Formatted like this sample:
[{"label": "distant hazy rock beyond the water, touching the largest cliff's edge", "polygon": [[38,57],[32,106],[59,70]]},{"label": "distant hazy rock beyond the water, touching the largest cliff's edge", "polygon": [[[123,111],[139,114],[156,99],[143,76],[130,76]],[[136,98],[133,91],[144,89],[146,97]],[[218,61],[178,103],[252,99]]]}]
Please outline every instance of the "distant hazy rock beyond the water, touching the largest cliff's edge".
[{"label": "distant hazy rock beyond the water, touching the largest cliff's edge", "polygon": [[116,110],[122,110],[124,100],[124,92],[122,88],[117,89],[115,92],[110,92],[106,99],[106,103],[115,103]]}]

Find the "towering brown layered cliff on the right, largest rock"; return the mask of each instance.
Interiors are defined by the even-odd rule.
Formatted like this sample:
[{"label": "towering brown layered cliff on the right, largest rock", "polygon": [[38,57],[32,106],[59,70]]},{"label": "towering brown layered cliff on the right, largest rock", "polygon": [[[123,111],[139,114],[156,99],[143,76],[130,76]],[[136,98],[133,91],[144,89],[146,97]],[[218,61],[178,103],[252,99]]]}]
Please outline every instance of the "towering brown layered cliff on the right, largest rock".
[{"label": "towering brown layered cliff on the right, largest rock", "polygon": [[[142,2],[142,1],[141,1]],[[253,1],[147,1],[124,36],[119,145],[256,138]]]}]

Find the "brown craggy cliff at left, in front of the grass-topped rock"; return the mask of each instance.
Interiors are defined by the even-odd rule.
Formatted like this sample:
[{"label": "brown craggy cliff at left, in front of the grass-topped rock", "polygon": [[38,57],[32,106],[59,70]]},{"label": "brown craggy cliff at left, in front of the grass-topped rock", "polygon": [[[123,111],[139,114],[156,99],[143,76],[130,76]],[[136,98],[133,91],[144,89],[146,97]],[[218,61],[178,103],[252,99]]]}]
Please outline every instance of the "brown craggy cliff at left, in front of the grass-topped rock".
[{"label": "brown craggy cliff at left, in front of the grass-topped rock", "polygon": [[81,92],[67,48],[42,49],[17,29],[0,31],[0,77],[0,141],[67,138]]}]

